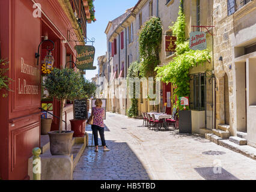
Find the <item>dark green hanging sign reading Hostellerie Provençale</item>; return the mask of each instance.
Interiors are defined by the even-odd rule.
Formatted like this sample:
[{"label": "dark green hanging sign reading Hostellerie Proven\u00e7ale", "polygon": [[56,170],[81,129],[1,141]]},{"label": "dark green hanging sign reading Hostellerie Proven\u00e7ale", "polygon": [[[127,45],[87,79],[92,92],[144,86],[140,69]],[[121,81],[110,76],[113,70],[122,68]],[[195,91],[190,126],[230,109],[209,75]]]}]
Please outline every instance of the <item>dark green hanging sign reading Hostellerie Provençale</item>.
[{"label": "dark green hanging sign reading Hostellerie Proven\u00e7ale", "polygon": [[96,70],[93,66],[95,47],[94,46],[76,46],[76,67],[79,70]]}]

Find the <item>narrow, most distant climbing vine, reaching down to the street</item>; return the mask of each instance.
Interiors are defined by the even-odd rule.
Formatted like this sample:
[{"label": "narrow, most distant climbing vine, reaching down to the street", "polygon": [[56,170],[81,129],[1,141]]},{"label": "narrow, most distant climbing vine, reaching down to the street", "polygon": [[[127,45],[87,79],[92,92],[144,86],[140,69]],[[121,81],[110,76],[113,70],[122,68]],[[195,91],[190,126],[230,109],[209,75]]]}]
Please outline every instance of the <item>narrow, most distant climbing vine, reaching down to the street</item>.
[{"label": "narrow, most distant climbing vine, reaching down to the street", "polygon": [[135,61],[132,64],[130,64],[130,67],[128,68],[127,71],[127,88],[129,88],[129,86],[133,86],[133,98],[130,99],[130,101],[132,102],[132,106],[130,106],[130,108],[127,110],[127,116],[129,117],[138,116],[138,99],[136,99],[135,83],[133,83],[133,85],[129,85],[129,80],[130,78],[141,77],[139,74],[139,68],[140,63],[138,61]]}]

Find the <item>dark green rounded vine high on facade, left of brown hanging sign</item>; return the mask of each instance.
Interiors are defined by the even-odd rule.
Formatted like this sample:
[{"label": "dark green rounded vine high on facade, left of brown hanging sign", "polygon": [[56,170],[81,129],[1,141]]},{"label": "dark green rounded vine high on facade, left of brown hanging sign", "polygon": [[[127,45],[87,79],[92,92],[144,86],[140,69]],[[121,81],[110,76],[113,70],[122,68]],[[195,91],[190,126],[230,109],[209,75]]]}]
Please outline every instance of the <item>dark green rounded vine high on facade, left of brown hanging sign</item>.
[{"label": "dark green rounded vine high on facade, left of brown hanging sign", "polygon": [[160,64],[159,52],[162,42],[162,22],[158,17],[151,17],[139,34],[139,54],[141,74],[144,77],[155,76],[154,68]]}]

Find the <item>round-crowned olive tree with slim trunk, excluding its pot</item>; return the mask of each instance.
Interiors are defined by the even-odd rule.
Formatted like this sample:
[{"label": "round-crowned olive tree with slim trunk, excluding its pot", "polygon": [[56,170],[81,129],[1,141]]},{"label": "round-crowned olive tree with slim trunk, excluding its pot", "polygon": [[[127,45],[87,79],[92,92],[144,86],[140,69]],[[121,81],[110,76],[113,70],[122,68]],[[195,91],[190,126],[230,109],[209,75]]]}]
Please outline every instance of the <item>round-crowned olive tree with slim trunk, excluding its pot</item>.
[{"label": "round-crowned olive tree with slim trunk, excluding its pot", "polygon": [[49,92],[50,97],[55,97],[58,101],[61,101],[59,133],[62,132],[63,101],[84,98],[85,91],[83,83],[84,78],[81,74],[69,68],[54,68],[50,74],[47,74],[47,79],[43,83],[43,86]]}]

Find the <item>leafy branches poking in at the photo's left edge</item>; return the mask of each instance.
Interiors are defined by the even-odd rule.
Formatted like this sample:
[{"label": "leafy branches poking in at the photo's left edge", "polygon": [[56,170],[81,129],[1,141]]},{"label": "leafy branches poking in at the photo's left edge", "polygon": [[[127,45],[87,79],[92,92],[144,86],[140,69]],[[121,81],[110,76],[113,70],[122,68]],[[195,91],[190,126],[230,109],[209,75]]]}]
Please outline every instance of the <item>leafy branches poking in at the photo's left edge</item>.
[{"label": "leafy branches poking in at the photo's left edge", "polygon": [[[12,79],[10,79],[8,76],[5,76],[5,73],[9,70],[5,66],[8,65],[8,62],[6,62],[6,59],[0,59],[0,90],[5,89],[6,92],[11,91],[9,88],[10,82]],[[2,94],[2,97],[7,97],[8,93]]]}]

